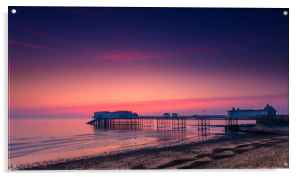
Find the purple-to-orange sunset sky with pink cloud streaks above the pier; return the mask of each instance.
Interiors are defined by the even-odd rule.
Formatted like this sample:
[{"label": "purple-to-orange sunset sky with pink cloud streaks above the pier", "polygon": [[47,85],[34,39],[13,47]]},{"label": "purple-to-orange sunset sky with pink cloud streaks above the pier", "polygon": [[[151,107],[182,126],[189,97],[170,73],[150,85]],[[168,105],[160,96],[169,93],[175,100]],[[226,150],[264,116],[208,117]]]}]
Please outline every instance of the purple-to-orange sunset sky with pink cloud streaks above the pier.
[{"label": "purple-to-orange sunset sky with pink cloud streaks above the pier", "polygon": [[11,118],[288,113],[288,9],[12,8]]}]

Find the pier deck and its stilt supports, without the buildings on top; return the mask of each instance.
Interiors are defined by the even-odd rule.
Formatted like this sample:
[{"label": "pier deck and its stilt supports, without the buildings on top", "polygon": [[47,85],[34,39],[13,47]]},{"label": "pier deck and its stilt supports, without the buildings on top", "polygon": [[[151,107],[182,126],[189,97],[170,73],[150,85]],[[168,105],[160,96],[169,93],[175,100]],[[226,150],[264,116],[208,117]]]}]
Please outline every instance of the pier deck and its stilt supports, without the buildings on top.
[{"label": "pier deck and its stilt supports, without the buildings on top", "polygon": [[[130,127],[141,129],[156,127],[156,129],[183,129],[186,128],[186,120],[197,120],[197,130],[207,129],[210,126],[225,127],[225,131],[238,129],[238,120],[255,120],[256,117],[227,117],[226,115],[197,115],[197,116],[108,116],[92,117],[93,120],[86,123],[93,124],[98,128]],[[210,124],[210,120],[225,120],[225,123]],[[147,128],[146,128],[147,129]]]}]

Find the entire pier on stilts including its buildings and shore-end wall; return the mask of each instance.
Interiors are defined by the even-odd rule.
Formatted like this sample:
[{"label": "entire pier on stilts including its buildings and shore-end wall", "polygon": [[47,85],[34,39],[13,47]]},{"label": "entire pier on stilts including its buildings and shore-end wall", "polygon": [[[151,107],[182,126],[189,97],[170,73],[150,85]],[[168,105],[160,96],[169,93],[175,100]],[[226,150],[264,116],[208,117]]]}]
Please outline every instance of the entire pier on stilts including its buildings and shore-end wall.
[{"label": "entire pier on stilts including its buildings and shore-end wall", "polygon": [[[271,105],[266,104],[263,109],[239,109],[232,107],[227,110],[227,115],[181,115],[173,112],[165,112],[159,116],[138,116],[136,112],[128,110],[98,111],[94,112],[93,120],[86,123],[93,124],[99,128],[113,128],[117,125],[127,125],[130,128],[138,127],[154,127],[156,129],[183,129],[186,128],[186,120],[197,120],[194,124],[197,130],[207,129],[209,126],[224,126],[225,132],[238,130],[238,120],[256,120],[256,125],[259,122],[266,122],[269,126],[288,124],[288,115],[276,114],[277,110]],[[205,113],[205,110],[204,110]],[[224,120],[224,123],[210,124],[210,120]],[[155,124],[154,124],[155,123]]]}]

